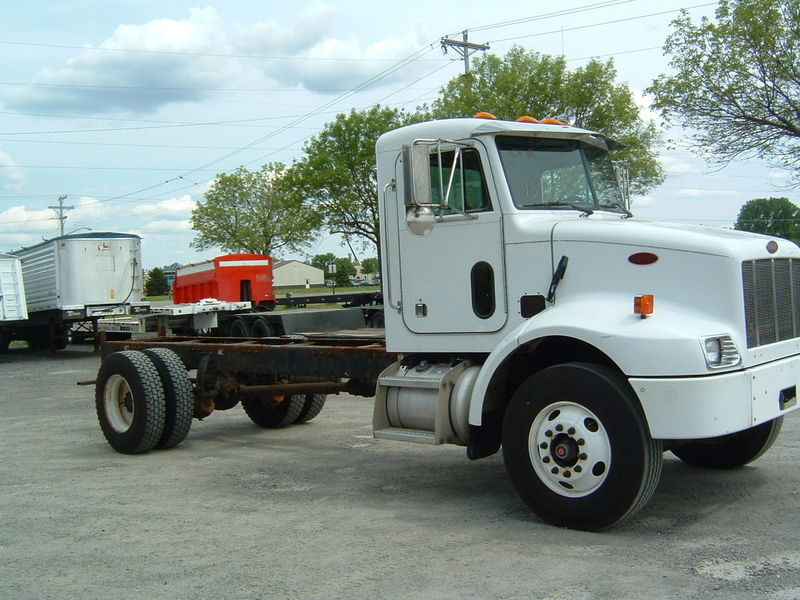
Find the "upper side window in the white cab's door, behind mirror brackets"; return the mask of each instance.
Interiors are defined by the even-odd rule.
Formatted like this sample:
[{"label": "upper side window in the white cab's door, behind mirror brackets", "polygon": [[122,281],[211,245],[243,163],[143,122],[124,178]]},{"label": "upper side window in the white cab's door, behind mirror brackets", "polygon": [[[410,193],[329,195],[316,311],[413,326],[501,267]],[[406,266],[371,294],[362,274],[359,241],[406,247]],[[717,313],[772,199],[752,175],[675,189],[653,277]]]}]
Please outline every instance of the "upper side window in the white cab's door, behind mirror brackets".
[{"label": "upper side window in the white cab's door, behind mirror brackets", "polygon": [[[489,200],[486,179],[483,176],[481,159],[477,150],[462,149],[455,165],[455,173],[453,173],[455,155],[454,150],[431,154],[431,197],[434,203],[441,202],[447,192],[450,177],[453,177],[450,195],[447,198],[448,208],[443,213],[438,208],[434,209],[434,212],[438,216],[440,213],[452,215],[458,214],[458,212],[473,213],[491,210],[492,204]],[[439,164],[440,156],[441,165]]]}]

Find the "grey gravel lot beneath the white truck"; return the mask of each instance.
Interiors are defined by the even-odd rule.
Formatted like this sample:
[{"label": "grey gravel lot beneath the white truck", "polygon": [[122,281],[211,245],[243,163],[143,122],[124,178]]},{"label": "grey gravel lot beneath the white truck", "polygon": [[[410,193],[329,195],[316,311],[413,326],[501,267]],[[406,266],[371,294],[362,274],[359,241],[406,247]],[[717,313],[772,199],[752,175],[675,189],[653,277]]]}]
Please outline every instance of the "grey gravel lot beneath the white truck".
[{"label": "grey gravel lot beneath the white truck", "polygon": [[373,440],[371,401],[263,430],[236,407],[114,452],[90,347],[0,355],[0,598],[800,598],[800,414],[754,465],[665,456],[603,533],[537,520],[500,455]]}]

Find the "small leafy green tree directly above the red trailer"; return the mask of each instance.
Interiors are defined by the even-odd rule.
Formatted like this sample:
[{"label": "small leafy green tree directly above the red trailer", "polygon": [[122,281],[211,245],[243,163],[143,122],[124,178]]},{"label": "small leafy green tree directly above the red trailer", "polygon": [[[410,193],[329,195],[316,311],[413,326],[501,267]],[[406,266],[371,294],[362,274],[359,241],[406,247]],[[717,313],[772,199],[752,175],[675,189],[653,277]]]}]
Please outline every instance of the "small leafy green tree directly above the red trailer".
[{"label": "small leafy green tree directly above the red trailer", "polygon": [[192,211],[197,236],[191,245],[268,255],[307,245],[319,219],[287,188],[285,171],[284,165],[269,163],[259,171],[239,167],[218,175]]}]

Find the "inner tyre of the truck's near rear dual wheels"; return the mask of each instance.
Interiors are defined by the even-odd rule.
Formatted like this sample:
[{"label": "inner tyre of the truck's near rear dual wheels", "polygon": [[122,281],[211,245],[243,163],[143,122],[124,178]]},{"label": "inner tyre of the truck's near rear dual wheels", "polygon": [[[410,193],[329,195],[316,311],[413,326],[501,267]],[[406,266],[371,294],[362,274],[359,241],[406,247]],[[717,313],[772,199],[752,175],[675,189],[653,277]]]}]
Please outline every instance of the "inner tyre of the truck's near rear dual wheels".
[{"label": "inner tyre of the truck's near rear dual wheels", "polygon": [[189,380],[186,366],[174,351],[167,348],[150,348],[144,353],[158,370],[166,400],[164,431],[155,447],[174,448],[186,439],[192,427],[194,415],[192,382]]}]

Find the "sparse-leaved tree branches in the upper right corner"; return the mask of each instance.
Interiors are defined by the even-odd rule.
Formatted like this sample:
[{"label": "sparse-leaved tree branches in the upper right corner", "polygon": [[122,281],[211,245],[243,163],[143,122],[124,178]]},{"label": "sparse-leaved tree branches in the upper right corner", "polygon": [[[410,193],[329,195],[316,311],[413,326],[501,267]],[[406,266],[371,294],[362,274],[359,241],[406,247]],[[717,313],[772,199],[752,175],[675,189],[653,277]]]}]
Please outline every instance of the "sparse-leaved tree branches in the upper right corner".
[{"label": "sparse-leaved tree branches in the upper right corner", "polygon": [[674,73],[647,90],[665,118],[720,164],[762,157],[800,185],[800,3],[720,0],[716,22],[673,21],[664,45]]}]

